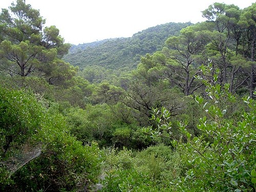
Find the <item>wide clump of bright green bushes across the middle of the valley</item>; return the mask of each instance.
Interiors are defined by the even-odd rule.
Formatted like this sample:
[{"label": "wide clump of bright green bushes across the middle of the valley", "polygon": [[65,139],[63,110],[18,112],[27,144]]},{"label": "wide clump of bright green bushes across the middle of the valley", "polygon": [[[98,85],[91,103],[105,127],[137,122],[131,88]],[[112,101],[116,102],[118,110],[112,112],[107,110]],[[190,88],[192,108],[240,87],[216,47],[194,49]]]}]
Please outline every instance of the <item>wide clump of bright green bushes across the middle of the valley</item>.
[{"label": "wide clump of bright green bushes across the middle of the valley", "polygon": [[[83,144],[96,141],[100,147],[115,146],[122,148],[144,148],[157,143],[144,134],[135,121],[123,119],[119,110],[127,112],[122,105],[110,106],[106,103],[86,105],[86,109],[71,108],[59,109],[59,105],[50,106],[49,110],[62,111],[70,126],[71,134]],[[124,114],[129,115],[129,114]],[[107,121],[105,119],[108,119]]]}]

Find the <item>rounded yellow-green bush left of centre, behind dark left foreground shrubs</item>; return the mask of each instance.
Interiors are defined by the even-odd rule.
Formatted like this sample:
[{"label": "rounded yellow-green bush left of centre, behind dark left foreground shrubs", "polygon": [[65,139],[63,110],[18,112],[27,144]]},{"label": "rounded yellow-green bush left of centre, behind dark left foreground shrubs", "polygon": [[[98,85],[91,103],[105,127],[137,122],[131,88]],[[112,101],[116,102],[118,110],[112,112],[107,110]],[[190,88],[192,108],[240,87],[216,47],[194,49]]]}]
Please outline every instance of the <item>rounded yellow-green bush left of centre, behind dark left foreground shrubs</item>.
[{"label": "rounded yellow-green bush left of centre, behind dark left foreground shrubs", "polygon": [[[111,145],[114,112],[108,104],[86,105],[86,109],[71,108],[67,113],[67,122],[71,127],[71,133],[79,141],[88,143],[97,141],[100,146]],[[108,119],[108,120],[106,120]]]}]

